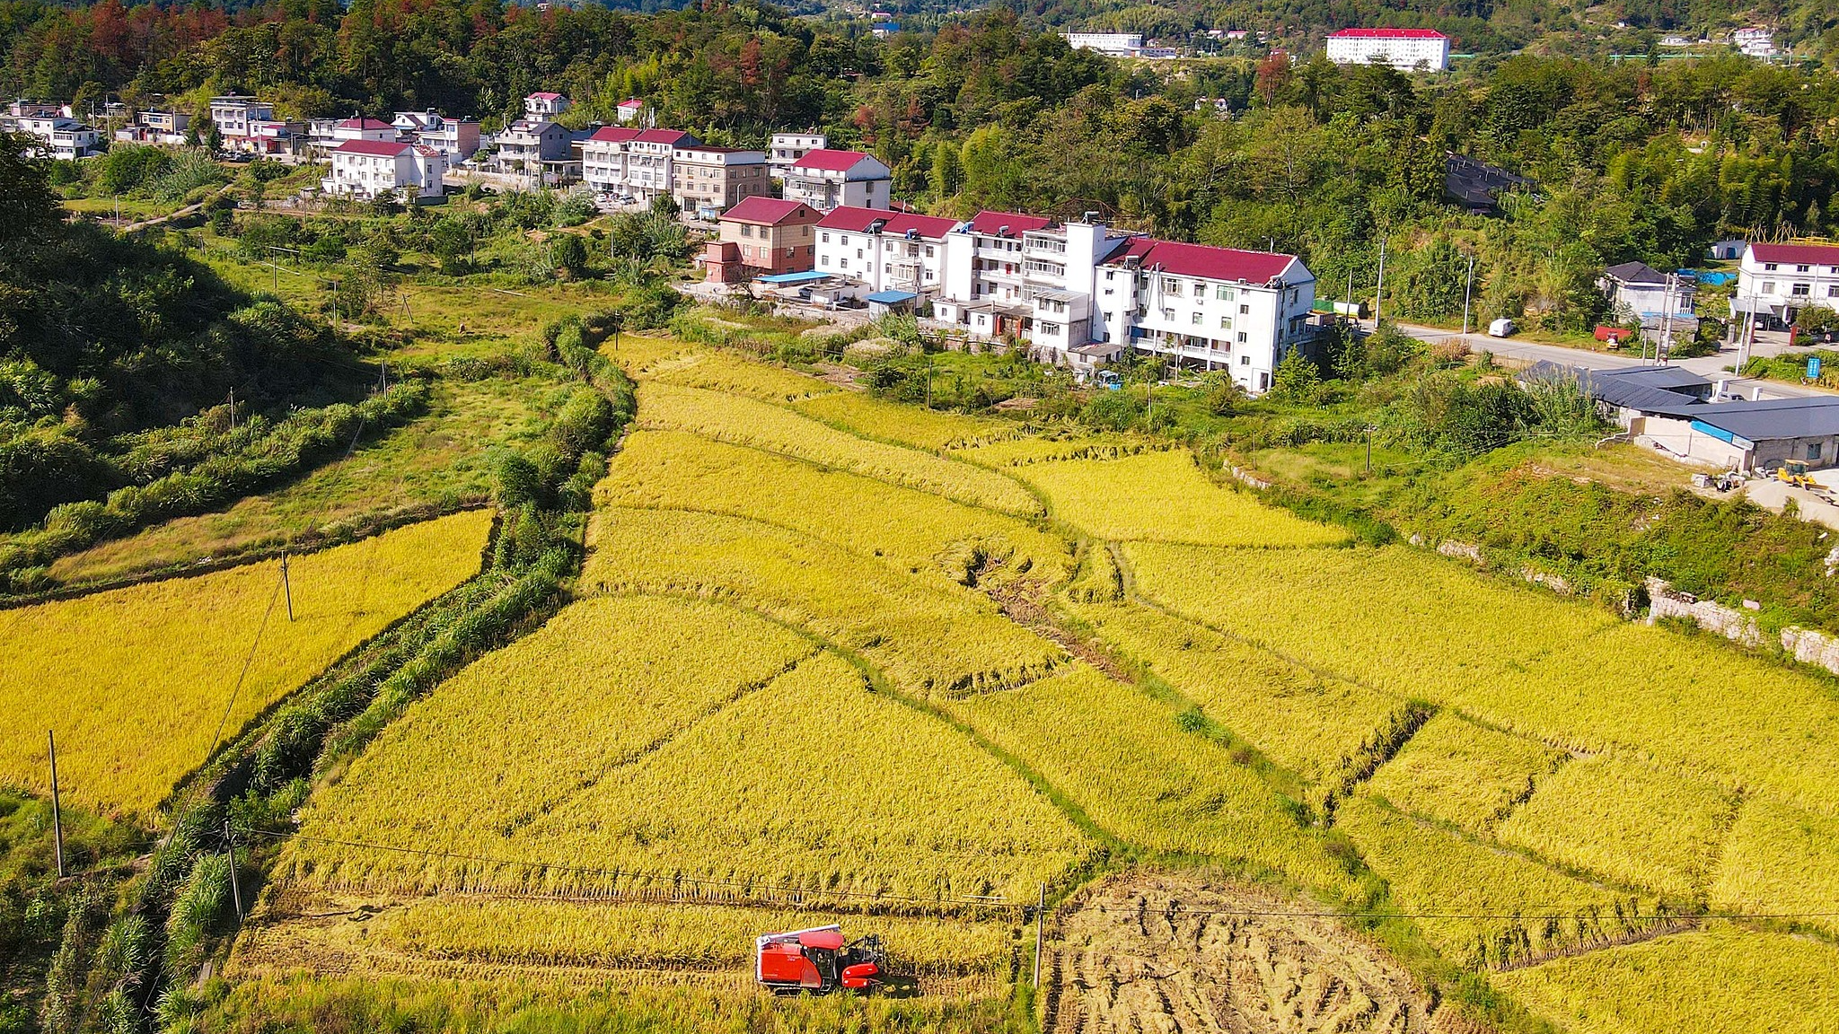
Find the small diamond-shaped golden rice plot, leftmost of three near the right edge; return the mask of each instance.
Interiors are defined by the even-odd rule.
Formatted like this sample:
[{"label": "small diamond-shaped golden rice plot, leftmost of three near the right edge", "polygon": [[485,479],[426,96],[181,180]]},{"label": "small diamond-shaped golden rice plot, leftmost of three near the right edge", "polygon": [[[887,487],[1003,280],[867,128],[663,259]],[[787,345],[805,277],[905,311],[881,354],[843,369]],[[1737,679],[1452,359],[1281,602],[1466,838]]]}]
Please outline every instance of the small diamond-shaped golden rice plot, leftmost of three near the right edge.
[{"label": "small diamond-shaped golden rice plot, leftmost of three near the right edge", "polygon": [[1486,833],[1565,762],[1550,747],[1440,712],[1374,773],[1394,808]]}]

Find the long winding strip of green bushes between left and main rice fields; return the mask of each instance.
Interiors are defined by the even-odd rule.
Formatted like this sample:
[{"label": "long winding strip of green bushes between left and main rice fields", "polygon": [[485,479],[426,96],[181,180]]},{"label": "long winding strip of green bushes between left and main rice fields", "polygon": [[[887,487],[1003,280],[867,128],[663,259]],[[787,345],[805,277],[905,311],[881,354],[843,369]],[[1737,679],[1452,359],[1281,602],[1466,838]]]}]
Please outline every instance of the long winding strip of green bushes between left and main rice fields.
[{"label": "long winding strip of green bushes between left and main rice fields", "polygon": [[[570,316],[543,329],[581,383],[541,440],[498,458],[484,570],[215,751],[167,800],[167,832],[149,856],[112,857],[64,881],[55,909],[35,913],[63,922],[42,999],[0,1008],[29,1008],[51,1034],[129,1032],[184,1025],[226,988],[211,977],[280,850],[278,837],[250,832],[285,833],[314,780],[337,775],[414,699],[566,602],[590,489],[634,412],[631,381],[596,351],[605,326]],[[15,1027],[9,1016],[0,1012],[0,1028]]]}]

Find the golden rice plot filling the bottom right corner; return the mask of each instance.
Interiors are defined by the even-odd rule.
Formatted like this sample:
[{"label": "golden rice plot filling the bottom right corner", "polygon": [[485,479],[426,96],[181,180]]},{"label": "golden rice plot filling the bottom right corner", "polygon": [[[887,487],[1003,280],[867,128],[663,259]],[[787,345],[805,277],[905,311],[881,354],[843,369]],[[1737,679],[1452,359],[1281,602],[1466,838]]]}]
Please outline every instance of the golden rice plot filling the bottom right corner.
[{"label": "golden rice plot filling the bottom right corner", "polygon": [[1574,1034],[1832,1034],[1839,948],[1730,924],[1490,977]]}]

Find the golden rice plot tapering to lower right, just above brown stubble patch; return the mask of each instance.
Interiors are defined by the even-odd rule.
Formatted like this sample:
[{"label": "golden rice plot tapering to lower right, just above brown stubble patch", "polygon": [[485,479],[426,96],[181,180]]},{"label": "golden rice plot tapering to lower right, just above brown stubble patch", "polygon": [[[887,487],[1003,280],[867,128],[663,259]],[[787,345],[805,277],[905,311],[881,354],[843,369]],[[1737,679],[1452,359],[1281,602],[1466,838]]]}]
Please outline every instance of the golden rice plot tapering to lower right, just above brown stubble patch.
[{"label": "golden rice plot tapering to lower right, just above brown stubble patch", "polygon": [[951,710],[1118,839],[1243,861],[1315,887],[1346,883],[1291,802],[1212,740],[1184,732],[1173,707],[1087,664]]}]

